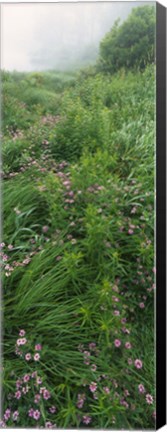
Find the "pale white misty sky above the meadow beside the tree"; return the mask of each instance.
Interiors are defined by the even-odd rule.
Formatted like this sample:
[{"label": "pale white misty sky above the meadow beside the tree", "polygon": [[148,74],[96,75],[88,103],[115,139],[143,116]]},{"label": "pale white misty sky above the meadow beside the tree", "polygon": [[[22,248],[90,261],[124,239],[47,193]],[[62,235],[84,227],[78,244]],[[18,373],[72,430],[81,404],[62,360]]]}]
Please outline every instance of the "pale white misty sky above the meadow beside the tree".
[{"label": "pale white misty sky above the meadow beside the tree", "polygon": [[1,67],[70,69],[96,59],[117,18],[152,2],[22,3],[1,5]]}]

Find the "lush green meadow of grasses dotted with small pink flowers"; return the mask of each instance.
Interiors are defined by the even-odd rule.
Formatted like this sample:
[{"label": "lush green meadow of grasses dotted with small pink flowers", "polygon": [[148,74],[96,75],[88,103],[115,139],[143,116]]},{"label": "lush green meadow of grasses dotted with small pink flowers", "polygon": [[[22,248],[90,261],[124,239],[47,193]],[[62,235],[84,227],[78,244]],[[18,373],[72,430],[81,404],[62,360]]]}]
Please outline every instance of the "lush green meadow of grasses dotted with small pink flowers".
[{"label": "lush green meadow of grasses dotted with small pink flowers", "polygon": [[155,66],[2,94],[1,426],[151,429]]}]

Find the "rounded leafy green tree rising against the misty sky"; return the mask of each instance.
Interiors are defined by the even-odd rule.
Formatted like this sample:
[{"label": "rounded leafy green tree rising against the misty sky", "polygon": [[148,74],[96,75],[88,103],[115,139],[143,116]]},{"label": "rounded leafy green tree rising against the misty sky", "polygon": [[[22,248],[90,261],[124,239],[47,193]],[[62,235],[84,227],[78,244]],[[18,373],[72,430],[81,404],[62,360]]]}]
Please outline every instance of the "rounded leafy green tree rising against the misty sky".
[{"label": "rounded leafy green tree rising against the misty sky", "polygon": [[120,68],[144,69],[154,62],[155,7],[132,9],[123,24],[117,20],[100,43],[97,69],[114,73]]}]

